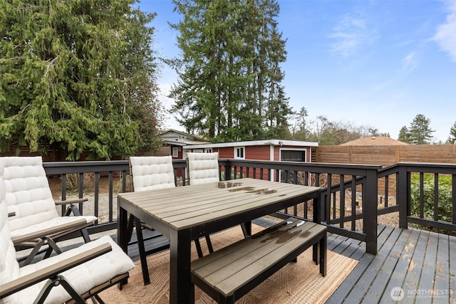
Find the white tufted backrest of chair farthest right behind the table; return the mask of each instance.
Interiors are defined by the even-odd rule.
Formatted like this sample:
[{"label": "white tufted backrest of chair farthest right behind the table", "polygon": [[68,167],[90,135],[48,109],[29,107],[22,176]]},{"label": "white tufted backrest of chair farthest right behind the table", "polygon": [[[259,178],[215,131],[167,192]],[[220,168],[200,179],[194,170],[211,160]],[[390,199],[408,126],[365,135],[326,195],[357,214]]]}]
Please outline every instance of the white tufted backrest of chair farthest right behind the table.
[{"label": "white tufted backrest of chair farthest right behind the table", "polygon": [[190,184],[219,182],[219,153],[187,152],[187,169]]}]

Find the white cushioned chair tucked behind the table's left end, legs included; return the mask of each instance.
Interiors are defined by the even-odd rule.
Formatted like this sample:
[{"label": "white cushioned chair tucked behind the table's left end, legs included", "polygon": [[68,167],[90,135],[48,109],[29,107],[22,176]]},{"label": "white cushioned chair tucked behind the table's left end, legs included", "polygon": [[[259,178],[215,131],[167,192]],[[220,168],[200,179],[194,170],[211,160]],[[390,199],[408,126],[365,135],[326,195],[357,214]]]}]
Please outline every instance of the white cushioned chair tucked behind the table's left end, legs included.
[{"label": "white cushioned chair tucked behind the table's left end, legs included", "polygon": [[[145,156],[145,157],[130,157],[130,186],[132,192],[140,192],[153,189],[163,189],[176,187],[174,167],[172,167],[171,156]],[[149,273],[147,273],[147,261],[144,247],[144,239],[140,227],[153,230],[153,227],[147,226],[139,219],[133,219],[130,215],[130,229],[133,229],[131,223],[135,221],[136,236],[138,238],[138,247],[140,251],[140,260],[142,264],[142,279],[144,284],[150,283]],[[210,243],[209,243],[210,244]],[[209,246],[209,251],[212,246]],[[195,240],[198,256],[202,256],[202,249],[199,240]]]}]

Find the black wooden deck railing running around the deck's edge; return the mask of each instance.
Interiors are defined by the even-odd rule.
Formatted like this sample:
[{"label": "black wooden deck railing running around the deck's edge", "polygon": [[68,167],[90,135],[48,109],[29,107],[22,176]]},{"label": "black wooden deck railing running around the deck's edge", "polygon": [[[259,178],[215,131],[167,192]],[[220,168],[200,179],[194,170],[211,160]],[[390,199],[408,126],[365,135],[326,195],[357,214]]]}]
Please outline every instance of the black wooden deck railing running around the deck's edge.
[{"label": "black wooden deck railing running around the deck's edge", "polygon": [[[175,167],[176,184],[187,183],[186,162],[177,160]],[[390,212],[399,213],[399,225],[406,228],[408,223],[424,224],[430,227],[456,231],[456,165],[399,163],[382,169],[368,164],[329,164],[302,162],[263,162],[242,159],[219,159],[221,179],[251,177],[277,182],[291,182],[322,188],[322,219],[331,233],[347,236],[366,242],[368,253],[377,253],[378,215]],[[61,177],[61,199],[68,196],[68,174],[78,176],[76,195],[86,195],[84,179],[92,174],[93,206],[90,212],[100,216],[100,197],[107,199],[108,219],[90,227],[90,234],[117,228],[117,193],[129,191],[128,160],[95,162],[47,162],[43,164],[48,176]],[[441,221],[438,213],[431,219],[425,212],[418,216],[410,215],[410,177],[412,174],[439,174],[452,177],[452,221]],[[108,177],[108,193],[100,193],[100,177]],[[379,185],[381,187],[379,187]],[[423,188],[423,184],[420,184]],[[438,189],[438,187],[436,187]],[[438,191],[435,196],[435,211],[438,210]],[[106,197],[107,196],[107,197]],[[84,205],[80,204],[83,214]],[[424,204],[423,204],[424,205]],[[379,207],[380,206],[380,207]],[[105,207],[106,209],[106,207]],[[421,207],[424,209],[424,206]],[[92,211],[93,210],[93,211]],[[276,216],[296,216],[311,219],[311,204],[302,202],[293,208],[282,210]]]}]

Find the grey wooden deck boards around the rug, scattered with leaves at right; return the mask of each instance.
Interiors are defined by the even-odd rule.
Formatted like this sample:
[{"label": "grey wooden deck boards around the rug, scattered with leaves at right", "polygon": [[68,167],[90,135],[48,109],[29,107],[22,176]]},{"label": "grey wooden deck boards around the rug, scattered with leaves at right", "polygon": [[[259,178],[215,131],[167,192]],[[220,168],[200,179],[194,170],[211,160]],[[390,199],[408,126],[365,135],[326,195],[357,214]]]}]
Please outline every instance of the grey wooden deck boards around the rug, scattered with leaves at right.
[{"label": "grey wooden deck boards around the rug, scattered with leaves at right", "polygon": [[[273,223],[265,218],[254,221],[264,227]],[[145,230],[145,237],[153,235]],[[147,251],[166,246],[162,236],[146,241]],[[326,303],[456,303],[455,236],[379,225],[376,256],[366,253],[365,243],[336,234],[328,235],[328,250],[359,263]],[[137,260],[138,246],[130,245],[128,254]],[[391,296],[392,290],[400,295],[394,291],[398,288],[402,288],[400,301]]]}]

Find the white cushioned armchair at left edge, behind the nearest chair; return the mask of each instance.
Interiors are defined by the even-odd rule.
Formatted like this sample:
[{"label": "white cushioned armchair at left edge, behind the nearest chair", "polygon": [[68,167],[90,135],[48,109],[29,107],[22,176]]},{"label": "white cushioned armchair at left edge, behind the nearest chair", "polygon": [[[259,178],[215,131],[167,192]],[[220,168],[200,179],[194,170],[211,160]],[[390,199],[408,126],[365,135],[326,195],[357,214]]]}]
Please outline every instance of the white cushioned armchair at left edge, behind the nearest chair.
[{"label": "white cushioned armchair at left edge, behind the nearest chair", "polygon": [[[58,214],[41,157],[0,157],[0,163],[4,167],[6,208],[9,214],[14,214],[8,219],[11,239],[16,248],[34,247],[24,265],[33,260],[43,245],[48,245],[45,258],[53,250],[61,253],[55,243],[60,236],[81,231],[84,241],[90,241],[86,227],[93,225],[97,217]],[[74,204],[83,200],[59,203],[70,204],[66,212],[69,215],[71,210],[77,210]]]}]

